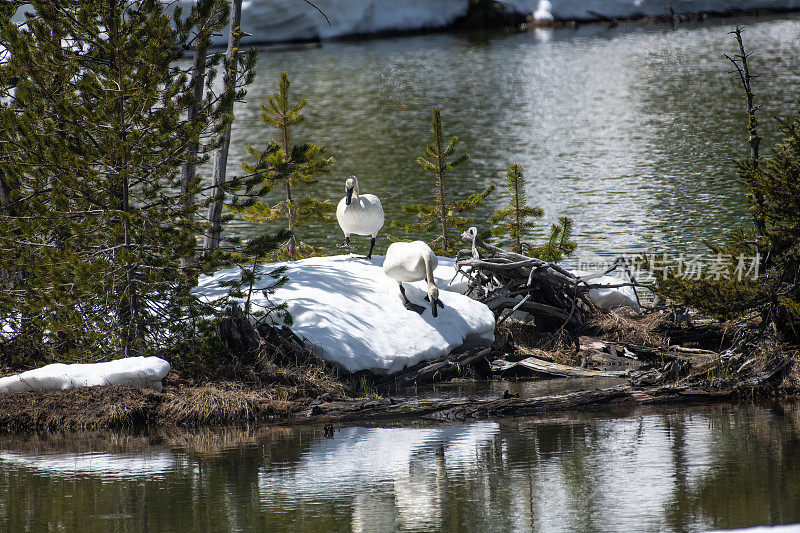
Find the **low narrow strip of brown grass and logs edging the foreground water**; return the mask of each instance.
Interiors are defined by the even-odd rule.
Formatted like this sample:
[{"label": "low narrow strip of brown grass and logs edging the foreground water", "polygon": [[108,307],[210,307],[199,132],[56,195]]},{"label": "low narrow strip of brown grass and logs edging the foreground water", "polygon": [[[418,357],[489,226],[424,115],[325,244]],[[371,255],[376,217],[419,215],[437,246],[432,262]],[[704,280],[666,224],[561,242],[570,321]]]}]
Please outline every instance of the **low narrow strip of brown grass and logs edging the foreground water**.
[{"label": "low narrow strip of brown grass and logs edging the foreground water", "polygon": [[505,391],[497,398],[335,398],[326,393],[315,399],[279,400],[263,389],[235,384],[168,385],[163,392],[119,386],[9,392],[0,394],[0,431],[454,422],[574,410],[590,412],[615,406],[751,401],[755,397],[776,395],[784,399],[798,397],[787,391],[776,394],[776,387],[770,381],[769,378],[752,384],[743,381],[723,388],[691,383],[637,386],[628,382],[523,398]]}]

